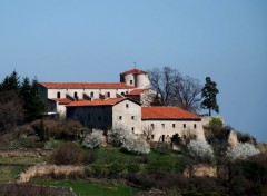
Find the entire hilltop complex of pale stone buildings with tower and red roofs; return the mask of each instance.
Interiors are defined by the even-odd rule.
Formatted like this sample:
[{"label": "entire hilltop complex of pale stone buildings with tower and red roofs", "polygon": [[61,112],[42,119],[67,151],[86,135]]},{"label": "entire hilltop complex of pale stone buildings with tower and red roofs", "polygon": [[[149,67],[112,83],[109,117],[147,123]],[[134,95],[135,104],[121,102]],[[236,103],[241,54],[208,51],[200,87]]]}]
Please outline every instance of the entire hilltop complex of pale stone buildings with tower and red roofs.
[{"label": "entire hilltop complex of pale stone buildings with tower and red roofs", "polygon": [[48,112],[80,120],[102,130],[123,126],[136,135],[169,141],[176,133],[204,139],[201,117],[178,107],[150,107],[149,76],[131,69],[120,74],[120,82],[40,82]]}]

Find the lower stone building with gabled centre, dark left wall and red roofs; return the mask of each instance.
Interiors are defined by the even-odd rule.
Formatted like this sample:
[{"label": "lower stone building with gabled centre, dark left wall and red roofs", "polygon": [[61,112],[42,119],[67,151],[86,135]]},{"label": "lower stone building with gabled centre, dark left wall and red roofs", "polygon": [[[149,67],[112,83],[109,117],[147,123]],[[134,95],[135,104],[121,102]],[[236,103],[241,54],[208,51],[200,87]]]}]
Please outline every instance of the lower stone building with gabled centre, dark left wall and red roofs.
[{"label": "lower stone building with gabled centre, dark left wall and red roofs", "polygon": [[172,135],[196,135],[204,139],[201,117],[178,107],[144,107],[130,98],[77,100],[66,106],[67,118],[109,130],[122,126],[136,135],[149,135],[155,141],[169,141]]}]

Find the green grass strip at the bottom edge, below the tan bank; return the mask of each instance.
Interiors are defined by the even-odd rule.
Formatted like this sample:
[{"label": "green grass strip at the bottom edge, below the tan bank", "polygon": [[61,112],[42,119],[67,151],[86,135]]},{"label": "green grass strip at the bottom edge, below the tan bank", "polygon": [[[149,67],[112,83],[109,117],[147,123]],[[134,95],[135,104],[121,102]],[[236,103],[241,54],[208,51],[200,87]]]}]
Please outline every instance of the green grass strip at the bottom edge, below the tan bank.
[{"label": "green grass strip at the bottom edge, below the tan bank", "polygon": [[90,180],[53,180],[51,178],[34,178],[30,183],[38,185],[50,185],[60,187],[71,187],[79,196],[134,196],[139,189],[125,184],[92,183]]}]

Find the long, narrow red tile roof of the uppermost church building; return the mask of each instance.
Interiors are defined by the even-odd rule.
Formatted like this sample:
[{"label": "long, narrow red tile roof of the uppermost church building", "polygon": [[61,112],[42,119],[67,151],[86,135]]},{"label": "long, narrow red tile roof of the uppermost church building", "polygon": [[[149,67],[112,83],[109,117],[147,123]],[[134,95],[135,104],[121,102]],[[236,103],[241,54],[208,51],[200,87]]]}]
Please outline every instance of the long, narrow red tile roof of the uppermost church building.
[{"label": "long, narrow red tile roof of the uppermost church building", "polygon": [[122,82],[40,82],[49,89],[132,89]]}]

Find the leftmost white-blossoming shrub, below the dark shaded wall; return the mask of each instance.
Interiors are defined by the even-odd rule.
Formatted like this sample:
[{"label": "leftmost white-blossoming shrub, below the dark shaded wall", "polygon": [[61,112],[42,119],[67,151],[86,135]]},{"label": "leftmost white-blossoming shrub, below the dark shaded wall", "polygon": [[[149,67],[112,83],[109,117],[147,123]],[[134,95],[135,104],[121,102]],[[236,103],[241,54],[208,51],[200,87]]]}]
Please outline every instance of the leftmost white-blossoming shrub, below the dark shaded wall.
[{"label": "leftmost white-blossoming shrub, below the dark shaded wall", "polygon": [[87,148],[97,148],[105,141],[105,136],[101,130],[95,130],[90,135],[87,135],[82,145]]}]

